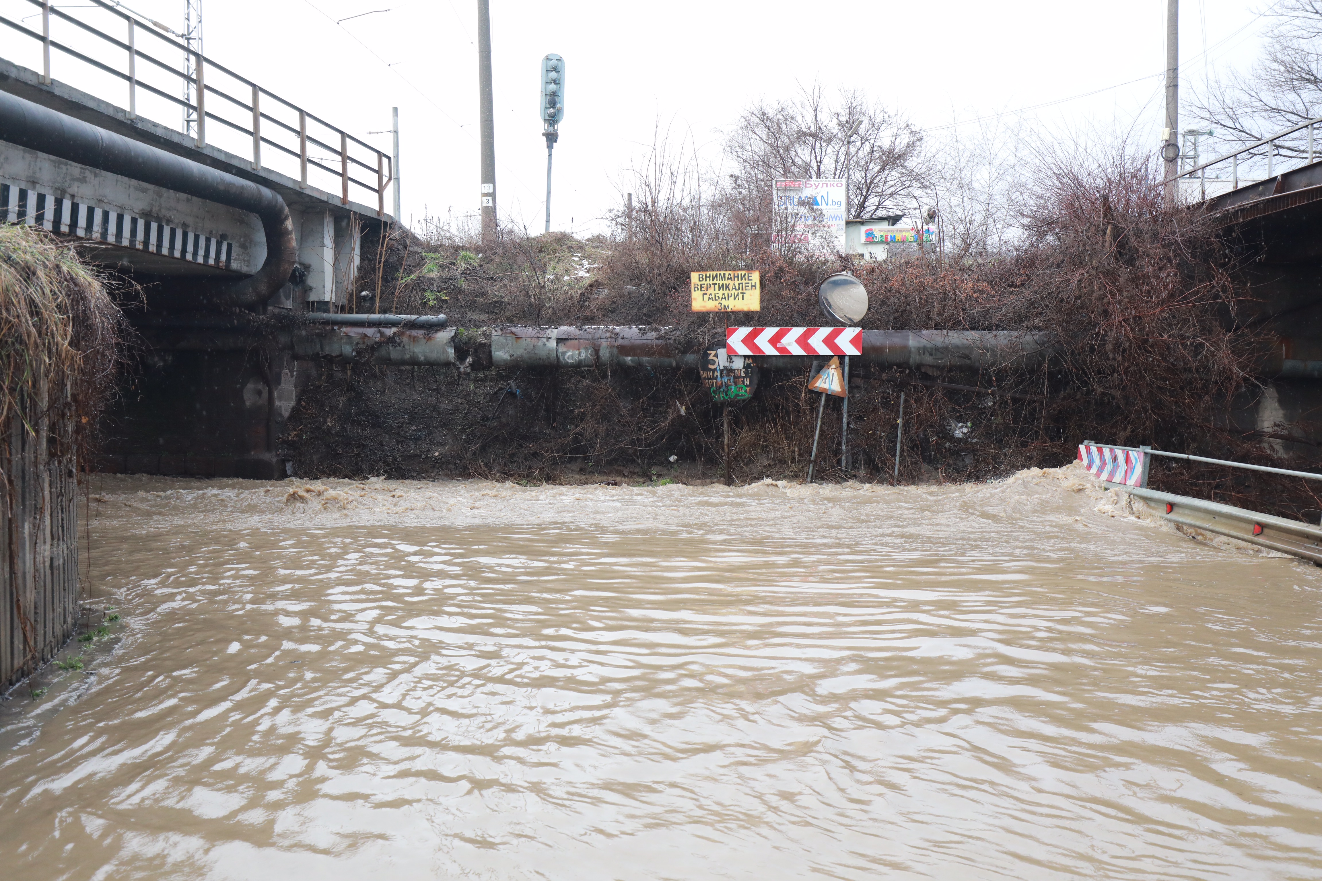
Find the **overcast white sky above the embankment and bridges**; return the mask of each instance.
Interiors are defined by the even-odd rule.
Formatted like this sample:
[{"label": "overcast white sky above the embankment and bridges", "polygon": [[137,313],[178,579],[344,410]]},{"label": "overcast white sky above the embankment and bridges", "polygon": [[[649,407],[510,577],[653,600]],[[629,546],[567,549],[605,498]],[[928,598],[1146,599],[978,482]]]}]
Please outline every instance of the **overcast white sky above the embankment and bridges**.
[{"label": "overcast white sky above the embankment and bridges", "polygon": [[[1183,82],[1251,63],[1266,3],[1185,0]],[[177,26],[184,4],[126,5]],[[553,229],[580,234],[602,229],[657,125],[715,162],[744,106],[814,82],[861,88],[923,127],[1040,106],[1025,116],[1044,131],[1134,127],[1142,143],[1159,137],[1166,0],[490,7],[498,206],[533,231],[543,211],[537,99],[549,52],[567,63]],[[204,20],[209,57],[330,123],[385,129],[398,106],[406,222],[477,210],[476,0],[204,0]],[[1042,106],[1096,90],[1105,91]],[[389,147],[389,136],[368,140]]]}]

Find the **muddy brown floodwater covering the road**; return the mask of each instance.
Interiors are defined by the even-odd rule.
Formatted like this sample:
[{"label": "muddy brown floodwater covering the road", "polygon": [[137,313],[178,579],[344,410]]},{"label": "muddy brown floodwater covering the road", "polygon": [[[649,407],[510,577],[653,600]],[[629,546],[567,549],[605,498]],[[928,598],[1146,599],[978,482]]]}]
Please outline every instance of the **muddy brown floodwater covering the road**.
[{"label": "muddy brown floodwater covering the road", "polygon": [[5,878],[1322,877],[1322,569],[1076,466],[93,491]]}]

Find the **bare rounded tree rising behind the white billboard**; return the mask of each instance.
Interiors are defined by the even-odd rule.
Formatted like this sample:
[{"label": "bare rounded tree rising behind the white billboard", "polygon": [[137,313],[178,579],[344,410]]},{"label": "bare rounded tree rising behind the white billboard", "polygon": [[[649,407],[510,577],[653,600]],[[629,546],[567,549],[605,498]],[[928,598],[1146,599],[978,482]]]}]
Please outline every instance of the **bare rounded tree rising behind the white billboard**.
[{"label": "bare rounded tree rising behind the white billboard", "polygon": [[821,86],[746,110],[727,133],[726,156],[735,189],[768,201],[775,180],[842,178],[847,164],[855,217],[887,211],[931,172],[923,132],[859,91],[841,90],[830,100]]}]

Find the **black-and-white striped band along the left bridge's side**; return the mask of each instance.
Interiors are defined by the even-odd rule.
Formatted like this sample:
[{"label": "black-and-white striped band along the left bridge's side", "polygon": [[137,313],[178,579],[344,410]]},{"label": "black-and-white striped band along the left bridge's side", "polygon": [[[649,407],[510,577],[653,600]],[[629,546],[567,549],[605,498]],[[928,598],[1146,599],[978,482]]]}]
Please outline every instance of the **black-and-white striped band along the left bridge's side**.
[{"label": "black-and-white striped band along the left bridge's side", "polygon": [[229,269],[234,243],[89,202],[0,181],[0,223],[26,223],[161,256]]}]

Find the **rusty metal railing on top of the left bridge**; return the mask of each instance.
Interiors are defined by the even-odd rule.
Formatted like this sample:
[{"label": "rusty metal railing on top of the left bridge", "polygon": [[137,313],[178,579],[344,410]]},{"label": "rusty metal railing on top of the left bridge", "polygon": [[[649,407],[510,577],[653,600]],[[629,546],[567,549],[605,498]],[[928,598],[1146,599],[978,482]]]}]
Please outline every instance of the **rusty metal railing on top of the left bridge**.
[{"label": "rusty metal railing on top of the left bridge", "polygon": [[[116,8],[114,3],[90,0],[93,4],[90,8],[98,13],[110,16],[111,20],[118,18],[119,24],[124,28],[123,40],[106,33],[103,28],[98,28],[52,5],[50,0],[8,0],[0,8],[8,11],[8,7],[22,3],[26,3],[29,7],[37,7],[40,12],[25,18],[11,18],[0,15],[0,24],[37,44],[36,48],[40,49],[38,65],[41,82],[44,85],[49,86],[53,82],[52,50],[56,50],[90,67],[94,71],[89,77],[91,81],[99,79],[99,82],[104,83],[108,77],[111,82],[119,81],[127,85],[128,107],[126,110],[130,119],[139,116],[140,98],[155,99],[157,107],[190,108],[196,115],[196,144],[198,148],[208,145],[208,123],[215,123],[222,127],[222,132],[231,136],[230,141],[251,143],[253,170],[263,168],[263,145],[268,147],[275,152],[278,162],[286,160],[280,162],[284,168],[296,169],[300,186],[316,185],[320,189],[334,192],[332,189],[334,185],[329,184],[330,180],[334,180],[340,185],[340,202],[342,205],[349,203],[350,186],[361,188],[368,193],[375,194],[377,215],[385,215],[385,194],[386,189],[394,182],[394,164],[391,157],[383,151],[309,114],[303,107],[262,88],[251,79],[234,73],[223,65],[206,58],[202,53],[193,50],[190,46],[161,33],[164,25],[143,21]],[[24,24],[24,21],[38,16],[41,18],[40,32]],[[57,34],[61,38],[52,36],[53,24],[65,29],[65,34]],[[190,54],[194,62],[196,77],[189,77],[177,66],[144,52],[139,46],[139,37],[147,34],[167,49],[178,52],[180,58],[185,53]],[[9,54],[9,45],[15,44],[8,44],[7,41],[7,55]],[[98,58],[97,55],[100,57]],[[140,67],[139,62],[144,62],[144,66]],[[98,78],[97,74],[100,74],[100,77]],[[218,78],[217,75],[233,81],[239,88],[246,88],[249,94],[242,98],[235,96],[208,82],[209,77]],[[153,78],[156,82],[148,82],[148,78]],[[161,83],[161,78],[167,82],[171,79],[177,81],[177,91],[184,91],[185,83],[190,85],[190,92],[196,96],[194,102],[190,103],[177,94],[171,94],[168,87],[157,85]],[[239,91],[239,88],[229,86],[229,83],[226,86],[234,91]],[[215,102],[208,106],[208,99],[210,98],[214,98]],[[111,103],[118,102],[111,100]],[[233,115],[235,110],[241,112],[243,122],[226,118],[225,111]],[[282,115],[286,119],[280,119],[279,116]],[[167,123],[159,116],[160,114],[153,120],[169,125],[176,131],[185,131],[182,125]],[[233,137],[235,135],[239,137]],[[324,151],[328,156],[309,155],[309,148],[313,147]],[[243,151],[246,148],[239,147],[234,152],[242,155]],[[270,164],[270,156],[267,156],[267,162],[266,168],[280,170],[275,164]],[[374,173],[375,182],[356,177],[354,173],[362,174],[361,169],[366,169],[369,174]],[[309,184],[309,172],[320,180]],[[319,172],[321,174],[317,174]],[[290,176],[293,177],[293,174]],[[366,177],[366,174],[362,176]]]}]

